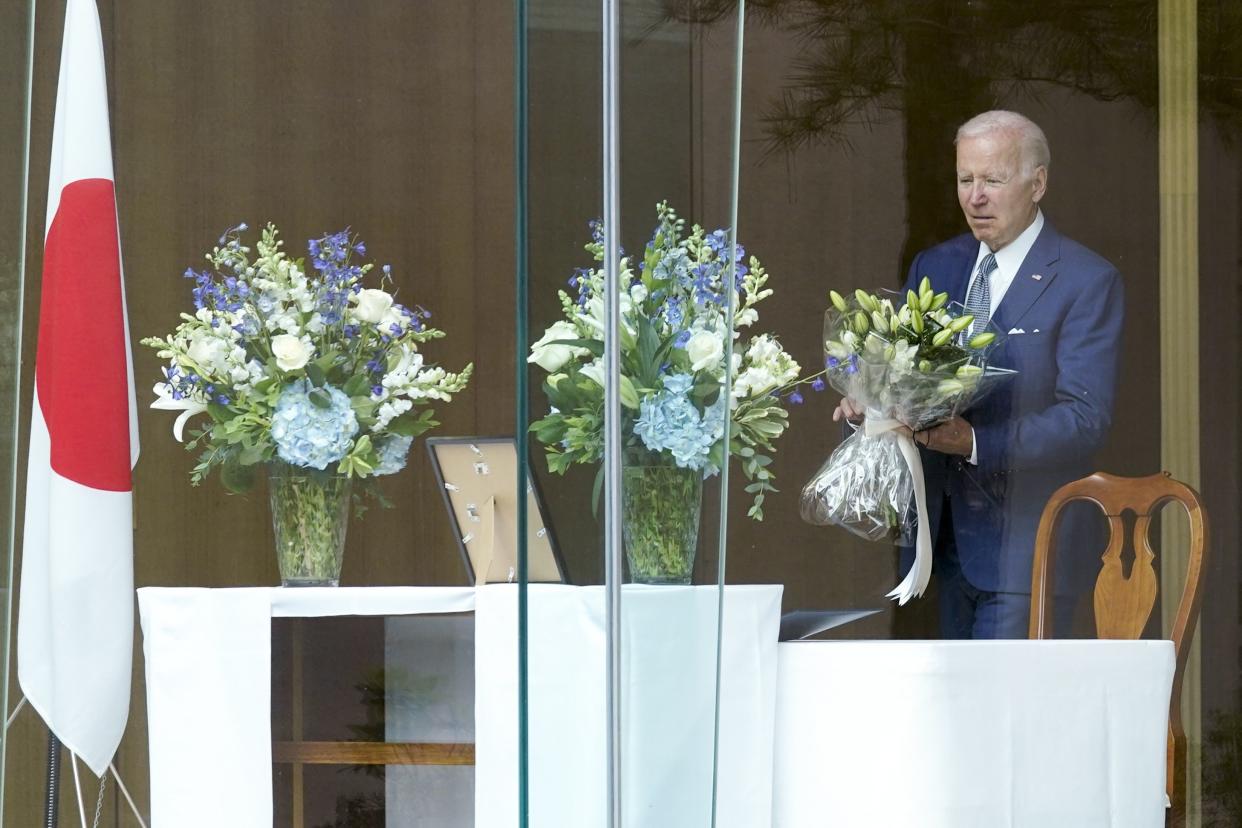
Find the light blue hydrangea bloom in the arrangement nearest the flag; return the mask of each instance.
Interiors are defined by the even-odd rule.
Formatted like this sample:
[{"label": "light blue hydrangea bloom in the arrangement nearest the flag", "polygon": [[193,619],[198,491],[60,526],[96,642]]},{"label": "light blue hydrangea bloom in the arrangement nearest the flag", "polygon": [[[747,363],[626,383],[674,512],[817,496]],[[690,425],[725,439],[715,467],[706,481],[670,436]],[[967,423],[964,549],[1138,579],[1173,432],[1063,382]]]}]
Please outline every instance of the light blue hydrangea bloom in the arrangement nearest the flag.
[{"label": "light blue hydrangea bloom in the arrangement nearest the flag", "polygon": [[320,408],[310,401],[314,391],[307,380],[291,382],[276,402],[272,415],[272,439],[276,453],[286,463],[303,468],[328,468],[349,453],[358,417],[349,397],[340,389],[325,385],[330,405]]}]

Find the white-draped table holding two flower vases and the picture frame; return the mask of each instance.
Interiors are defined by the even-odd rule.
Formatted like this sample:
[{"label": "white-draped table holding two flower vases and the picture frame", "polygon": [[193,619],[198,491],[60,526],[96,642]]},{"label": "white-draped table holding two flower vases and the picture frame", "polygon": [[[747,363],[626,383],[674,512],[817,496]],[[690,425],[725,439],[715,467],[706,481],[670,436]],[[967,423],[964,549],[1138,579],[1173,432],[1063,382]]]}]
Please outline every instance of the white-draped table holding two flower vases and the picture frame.
[{"label": "white-draped table holding two flower vases and the picture frame", "polygon": [[[698,824],[710,811],[717,596],[625,587],[630,824]],[[725,591],[720,826],[755,828],[770,813],[780,596],[780,586]],[[272,617],[472,611],[476,824],[517,824],[515,586],[147,587],[138,603],[155,828],[272,824]],[[532,824],[602,826],[604,590],[532,586],[529,617]]]}]

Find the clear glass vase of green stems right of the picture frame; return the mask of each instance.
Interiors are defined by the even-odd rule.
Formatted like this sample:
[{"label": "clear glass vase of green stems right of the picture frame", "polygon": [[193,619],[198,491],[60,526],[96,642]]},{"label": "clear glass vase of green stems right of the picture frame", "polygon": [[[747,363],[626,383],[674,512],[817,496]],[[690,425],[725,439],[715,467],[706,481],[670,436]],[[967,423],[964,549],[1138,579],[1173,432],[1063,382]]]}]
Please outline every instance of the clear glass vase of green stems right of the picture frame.
[{"label": "clear glass vase of green stems right of the picture frame", "polygon": [[703,509],[703,473],[676,466],[621,472],[621,531],[630,580],[689,583]]}]

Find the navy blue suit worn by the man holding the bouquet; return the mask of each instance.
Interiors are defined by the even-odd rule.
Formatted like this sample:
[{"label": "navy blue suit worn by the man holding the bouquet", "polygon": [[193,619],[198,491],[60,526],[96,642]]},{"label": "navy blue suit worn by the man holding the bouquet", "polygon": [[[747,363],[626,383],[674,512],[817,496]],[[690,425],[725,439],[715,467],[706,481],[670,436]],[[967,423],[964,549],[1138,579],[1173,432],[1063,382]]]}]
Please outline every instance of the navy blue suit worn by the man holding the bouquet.
[{"label": "navy blue suit worn by the man holding the bouquet", "polygon": [[[914,257],[907,289],[924,276],[965,303],[979,253],[969,233]],[[1095,470],[1093,454],[1113,420],[1124,317],[1122,278],[1109,262],[1045,221],[992,320],[1005,336],[991,364],[1017,370],[963,416],[975,430],[979,466],[923,452],[930,529],[938,555],[953,540],[970,583],[989,592],[1030,592],[1035,534],[1048,497]],[[1099,569],[1098,515],[1066,511],[1056,591],[1089,585]],[[905,565],[913,560],[907,550]],[[904,567],[903,567],[904,569]],[[934,566],[933,566],[934,571]]]}]

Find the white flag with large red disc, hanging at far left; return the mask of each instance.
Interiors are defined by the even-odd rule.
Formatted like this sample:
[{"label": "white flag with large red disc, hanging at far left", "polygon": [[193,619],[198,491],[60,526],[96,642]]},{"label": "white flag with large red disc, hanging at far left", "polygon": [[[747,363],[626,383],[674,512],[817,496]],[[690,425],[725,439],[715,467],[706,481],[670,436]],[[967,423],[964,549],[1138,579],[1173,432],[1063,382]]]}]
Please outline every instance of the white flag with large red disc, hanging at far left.
[{"label": "white flag with large red disc, hanging at far left", "polygon": [[129,715],[138,417],[94,0],[65,12],[46,228],[17,679],[102,775]]}]

